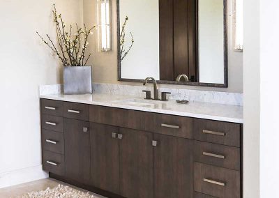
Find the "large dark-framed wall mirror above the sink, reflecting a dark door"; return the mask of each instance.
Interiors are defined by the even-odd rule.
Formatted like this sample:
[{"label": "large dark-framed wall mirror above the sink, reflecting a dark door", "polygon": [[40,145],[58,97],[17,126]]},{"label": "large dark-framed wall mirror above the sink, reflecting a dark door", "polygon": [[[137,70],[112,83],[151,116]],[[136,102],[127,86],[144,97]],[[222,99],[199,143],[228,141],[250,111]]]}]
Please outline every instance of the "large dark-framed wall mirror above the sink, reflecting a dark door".
[{"label": "large dark-framed wall mirror above the sink, reflecting a dark door", "polygon": [[119,81],[227,87],[226,0],[118,0]]}]

